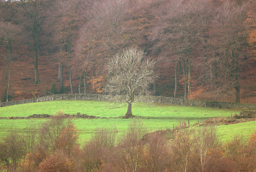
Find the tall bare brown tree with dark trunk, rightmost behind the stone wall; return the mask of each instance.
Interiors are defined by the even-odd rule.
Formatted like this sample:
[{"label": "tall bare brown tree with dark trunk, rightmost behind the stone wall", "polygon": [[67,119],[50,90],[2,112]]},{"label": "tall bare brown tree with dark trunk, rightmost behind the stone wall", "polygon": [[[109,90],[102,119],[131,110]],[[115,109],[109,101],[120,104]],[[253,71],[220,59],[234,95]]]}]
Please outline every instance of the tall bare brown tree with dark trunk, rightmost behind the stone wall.
[{"label": "tall bare brown tree with dark trunk, rightmost behind the stone wall", "polygon": [[240,71],[243,61],[247,58],[249,46],[247,42],[250,29],[248,8],[253,3],[255,4],[255,1],[224,1],[218,9],[212,27],[211,44],[214,47],[212,57],[216,63],[213,72],[217,73],[218,79],[215,79],[215,82],[227,95],[234,88],[238,103],[240,102]]}]

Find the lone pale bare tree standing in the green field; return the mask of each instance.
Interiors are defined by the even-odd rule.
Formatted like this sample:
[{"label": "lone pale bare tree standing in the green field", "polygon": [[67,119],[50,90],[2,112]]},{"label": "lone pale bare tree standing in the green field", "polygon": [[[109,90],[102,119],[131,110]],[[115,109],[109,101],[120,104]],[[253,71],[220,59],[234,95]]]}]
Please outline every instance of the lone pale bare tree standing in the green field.
[{"label": "lone pale bare tree standing in the green field", "polygon": [[[126,102],[128,110],[123,118],[132,117],[132,103],[148,95],[149,84],[154,82],[154,60],[136,47],[117,53],[108,63],[108,83],[106,92],[115,102]],[[135,98],[136,96],[136,98]]]}]

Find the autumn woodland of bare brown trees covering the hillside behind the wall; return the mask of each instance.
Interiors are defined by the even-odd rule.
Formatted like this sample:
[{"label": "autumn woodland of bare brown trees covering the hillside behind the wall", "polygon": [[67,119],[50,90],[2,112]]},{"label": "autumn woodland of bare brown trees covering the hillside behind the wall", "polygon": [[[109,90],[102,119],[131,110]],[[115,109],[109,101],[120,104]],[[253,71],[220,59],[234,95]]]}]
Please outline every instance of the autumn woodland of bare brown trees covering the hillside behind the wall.
[{"label": "autumn woodland of bare brown trees covering the hillside behind the wall", "polygon": [[104,94],[129,47],[156,96],[256,103],[255,0],[1,0],[1,101]]}]

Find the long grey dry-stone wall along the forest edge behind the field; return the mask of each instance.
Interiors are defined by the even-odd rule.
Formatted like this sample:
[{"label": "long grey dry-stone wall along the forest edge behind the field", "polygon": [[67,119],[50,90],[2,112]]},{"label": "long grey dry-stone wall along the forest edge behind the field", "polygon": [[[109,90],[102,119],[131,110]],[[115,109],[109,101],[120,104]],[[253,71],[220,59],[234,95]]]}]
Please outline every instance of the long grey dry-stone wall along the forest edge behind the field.
[{"label": "long grey dry-stone wall along the forest edge behind the field", "polygon": [[[0,107],[12,106],[16,104],[26,104],[33,102],[47,102],[54,100],[96,100],[96,101],[113,101],[110,95],[104,94],[52,94],[50,96],[43,96],[38,98],[31,98],[27,100],[18,100],[12,102],[0,102]],[[217,102],[217,101],[204,101],[204,100],[188,100],[164,96],[144,96],[142,98],[145,102],[159,102],[162,104],[182,105],[182,106],[197,106],[197,107],[210,107],[210,108],[244,108],[256,109],[256,104],[242,104],[234,102]]]}]

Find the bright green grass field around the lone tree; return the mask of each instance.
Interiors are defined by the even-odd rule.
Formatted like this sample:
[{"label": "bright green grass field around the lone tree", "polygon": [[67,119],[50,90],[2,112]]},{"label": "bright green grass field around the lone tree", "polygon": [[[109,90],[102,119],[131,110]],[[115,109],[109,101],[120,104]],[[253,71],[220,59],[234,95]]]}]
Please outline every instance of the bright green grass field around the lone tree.
[{"label": "bright green grass field around the lone tree", "polygon": [[[32,114],[50,114],[54,115],[58,111],[63,111],[66,114],[81,114],[99,116],[102,118],[96,119],[73,119],[73,122],[80,130],[80,138],[90,138],[91,134],[99,127],[115,126],[119,133],[122,133],[128,128],[128,125],[133,119],[117,118],[126,113],[127,106],[122,108],[112,108],[106,102],[99,101],[84,101],[84,100],[62,100],[53,102],[38,102],[30,104],[20,104],[15,106],[7,106],[0,108],[0,117],[10,116],[30,116]],[[198,120],[213,118],[213,117],[230,117],[231,114],[239,110],[190,107],[190,106],[171,106],[166,104],[153,104],[147,106],[145,104],[136,104],[132,107],[132,113],[138,116],[146,125],[149,131],[165,130],[172,128],[174,125],[179,125],[181,121],[190,125],[195,124]],[[36,119],[36,122],[43,122],[45,119]],[[9,120],[0,119],[0,137],[8,134],[10,129],[15,129],[22,133],[26,129],[26,124],[29,120]],[[233,124],[226,126],[218,126],[217,132],[222,140],[230,140],[236,135],[243,135],[245,138],[256,128],[256,121],[245,122],[241,124]]]}]

